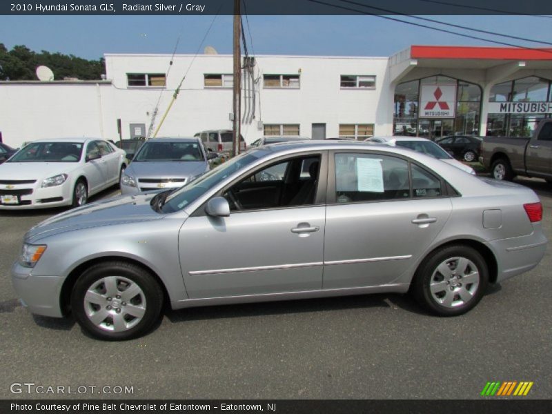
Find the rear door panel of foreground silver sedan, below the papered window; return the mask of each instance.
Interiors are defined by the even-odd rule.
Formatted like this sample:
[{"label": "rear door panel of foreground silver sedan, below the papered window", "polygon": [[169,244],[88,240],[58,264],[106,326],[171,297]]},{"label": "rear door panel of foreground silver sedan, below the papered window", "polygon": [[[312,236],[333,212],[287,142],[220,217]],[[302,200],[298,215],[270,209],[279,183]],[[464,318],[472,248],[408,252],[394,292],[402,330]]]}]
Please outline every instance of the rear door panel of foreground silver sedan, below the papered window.
[{"label": "rear door panel of foreground silver sedan, below the papered window", "polygon": [[[431,244],[450,214],[448,198],[328,206],[324,289],[393,283]],[[431,219],[436,220],[424,222]]]}]

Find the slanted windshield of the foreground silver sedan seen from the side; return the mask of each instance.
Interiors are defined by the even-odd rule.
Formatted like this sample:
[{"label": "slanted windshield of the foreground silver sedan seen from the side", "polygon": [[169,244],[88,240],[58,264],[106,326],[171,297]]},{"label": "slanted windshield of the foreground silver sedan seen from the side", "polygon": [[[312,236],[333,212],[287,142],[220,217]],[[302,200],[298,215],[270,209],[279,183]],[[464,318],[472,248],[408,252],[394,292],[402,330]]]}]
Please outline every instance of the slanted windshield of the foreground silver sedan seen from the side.
[{"label": "slanted windshield of the foreground silver sedan seen from the side", "polygon": [[188,206],[204,195],[209,188],[216,186],[219,182],[230,177],[237,170],[255,162],[264,152],[244,152],[242,155],[226,161],[224,164],[210,170],[195,181],[191,181],[186,186],[181,187],[175,193],[166,198],[165,204],[161,207],[163,213],[174,213]]}]

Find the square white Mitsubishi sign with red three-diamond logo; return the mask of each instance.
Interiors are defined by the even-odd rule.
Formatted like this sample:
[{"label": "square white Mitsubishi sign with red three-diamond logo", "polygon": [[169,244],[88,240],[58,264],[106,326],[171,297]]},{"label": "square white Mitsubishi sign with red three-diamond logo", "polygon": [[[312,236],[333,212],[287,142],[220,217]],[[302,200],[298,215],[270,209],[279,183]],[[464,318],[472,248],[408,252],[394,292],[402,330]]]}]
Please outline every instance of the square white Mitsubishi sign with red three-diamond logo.
[{"label": "square white Mitsubishi sign with red three-diamond logo", "polygon": [[422,85],[420,118],[454,118],[456,85]]}]

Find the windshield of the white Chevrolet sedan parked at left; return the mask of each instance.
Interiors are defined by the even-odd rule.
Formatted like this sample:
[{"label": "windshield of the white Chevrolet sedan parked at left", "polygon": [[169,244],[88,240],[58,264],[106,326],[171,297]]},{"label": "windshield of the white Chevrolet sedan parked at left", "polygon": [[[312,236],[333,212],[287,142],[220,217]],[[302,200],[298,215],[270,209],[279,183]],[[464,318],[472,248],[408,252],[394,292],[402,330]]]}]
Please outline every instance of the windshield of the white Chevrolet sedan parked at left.
[{"label": "windshield of the white Chevrolet sedan parked at left", "polygon": [[81,142],[32,142],[8,162],[78,162]]}]

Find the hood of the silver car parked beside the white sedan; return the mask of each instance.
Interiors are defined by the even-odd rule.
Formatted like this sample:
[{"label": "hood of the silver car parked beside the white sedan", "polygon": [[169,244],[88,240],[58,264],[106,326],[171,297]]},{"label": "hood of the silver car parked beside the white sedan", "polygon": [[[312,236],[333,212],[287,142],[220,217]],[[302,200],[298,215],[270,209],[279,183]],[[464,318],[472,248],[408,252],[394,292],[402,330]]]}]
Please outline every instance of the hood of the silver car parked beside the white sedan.
[{"label": "hood of the silver car parked beside the white sedan", "polygon": [[125,173],[134,177],[188,178],[206,169],[206,161],[132,161]]}]

